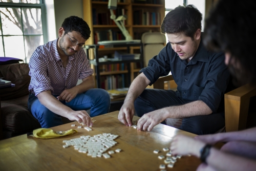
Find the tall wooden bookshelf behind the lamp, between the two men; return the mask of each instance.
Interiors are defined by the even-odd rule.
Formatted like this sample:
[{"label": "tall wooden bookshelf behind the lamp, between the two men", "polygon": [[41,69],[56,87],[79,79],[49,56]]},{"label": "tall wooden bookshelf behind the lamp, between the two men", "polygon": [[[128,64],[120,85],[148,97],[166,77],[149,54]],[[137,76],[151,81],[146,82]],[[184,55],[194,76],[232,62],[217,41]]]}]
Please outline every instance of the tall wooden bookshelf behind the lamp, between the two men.
[{"label": "tall wooden bookshelf behind the lamp, between the two men", "polygon": [[[125,20],[125,28],[133,37],[133,39],[141,39],[141,35],[144,32],[160,31],[160,25],[165,16],[164,0],[120,0],[117,3],[117,8],[118,9],[116,10],[116,14],[121,13],[127,16],[127,19]],[[155,18],[154,23],[152,16],[154,16]],[[144,23],[142,22],[143,17]],[[147,20],[145,19],[145,17],[147,17]],[[136,18],[140,19],[137,20]],[[97,45],[98,38],[100,38],[100,41],[112,39],[114,40],[114,38],[124,39],[124,36],[121,34],[119,28],[110,19],[110,11],[108,9],[107,0],[83,0],[83,19],[88,23],[89,27],[91,28],[91,37],[86,41],[86,45],[88,46]],[[95,59],[95,48],[96,47],[91,47],[88,50],[88,53],[91,54],[91,60]],[[138,54],[141,53],[141,49],[142,47],[140,46],[129,46],[129,53]],[[97,58],[101,58],[105,55],[108,56],[108,58],[111,58],[116,50],[127,52],[127,47],[115,46],[113,48],[97,48]],[[141,55],[141,58],[143,58],[143,55]],[[116,64],[112,61],[109,62],[111,62],[110,65]],[[117,70],[103,72],[100,71],[100,68],[98,68],[98,72],[96,72],[97,66],[93,64],[91,66],[94,69],[95,73],[100,74],[100,76],[108,77],[115,74],[124,74],[127,79],[129,79],[127,80],[127,82],[131,82],[138,75],[138,72],[141,69],[141,63],[140,61],[131,61],[125,63],[127,70],[124,71]],[[98,83],[99,82],[97,80],[97,84]]]}]

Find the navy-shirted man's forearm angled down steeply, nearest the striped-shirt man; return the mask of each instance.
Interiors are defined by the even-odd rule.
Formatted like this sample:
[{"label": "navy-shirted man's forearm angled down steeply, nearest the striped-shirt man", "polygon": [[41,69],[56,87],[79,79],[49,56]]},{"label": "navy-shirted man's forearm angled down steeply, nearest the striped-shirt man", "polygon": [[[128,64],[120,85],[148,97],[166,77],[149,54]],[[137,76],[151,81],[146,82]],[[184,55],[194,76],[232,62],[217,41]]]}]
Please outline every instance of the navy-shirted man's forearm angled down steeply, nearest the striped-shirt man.
[{"label": "navy-shirted man's forearm angled down steeply, nearest the striped-shirt man", "polygon": [[138,75],[132,82],[124,102],[134,102],[135,99],[145,90],[148,84],[150,84],[150,80],[148,80],[143,73]]}]

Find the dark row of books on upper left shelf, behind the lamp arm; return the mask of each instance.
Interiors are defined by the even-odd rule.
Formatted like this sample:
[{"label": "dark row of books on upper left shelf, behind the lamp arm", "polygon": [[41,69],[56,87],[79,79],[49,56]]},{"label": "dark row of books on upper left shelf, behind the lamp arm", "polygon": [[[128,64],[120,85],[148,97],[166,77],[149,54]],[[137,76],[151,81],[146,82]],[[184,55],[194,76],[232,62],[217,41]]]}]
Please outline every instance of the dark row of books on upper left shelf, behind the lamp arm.
[{"label": "dark row of books on upper left shelf, behind the lamp arm", "polygon": [[[117,8],[116,10],[113,10],[114,14],[116,15],[116,18],[120,15],[125,15],[126,12],[124,8]],[[96,8],[93,8],[93,25],[116,25],[114,20],[110,18],[110,11],[99,13]],[[127,17],[127,16],[126,16]],[[123,24],[125,25],[126,21],[123,20]]]}]

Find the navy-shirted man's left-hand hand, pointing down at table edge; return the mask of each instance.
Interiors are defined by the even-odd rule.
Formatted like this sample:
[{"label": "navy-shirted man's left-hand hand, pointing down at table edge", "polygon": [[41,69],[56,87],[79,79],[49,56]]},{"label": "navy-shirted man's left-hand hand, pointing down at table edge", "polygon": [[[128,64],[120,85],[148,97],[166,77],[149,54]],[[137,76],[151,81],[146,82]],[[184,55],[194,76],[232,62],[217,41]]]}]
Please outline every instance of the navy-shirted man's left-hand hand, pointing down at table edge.
[{"label": "navy-shirted man's left-hand hand, pointing down at table edge", "polygon": [[126,126],[132,126],[134,111],[135,108],[133,102],[124,102],[119,111],[118,120],[120,120]]}]

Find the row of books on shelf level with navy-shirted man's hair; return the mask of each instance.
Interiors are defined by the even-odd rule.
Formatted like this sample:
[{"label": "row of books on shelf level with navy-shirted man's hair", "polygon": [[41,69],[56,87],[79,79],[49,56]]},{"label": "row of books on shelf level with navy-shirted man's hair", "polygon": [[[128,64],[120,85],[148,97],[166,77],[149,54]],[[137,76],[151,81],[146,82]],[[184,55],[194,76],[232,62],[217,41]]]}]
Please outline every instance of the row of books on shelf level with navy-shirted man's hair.
[{"label": "row of books on shelf level with navy-shirted man's hair", "polygon": [[160,25],[161,16],[159,12],[144,12],[143,9],[134,11],[133,25]]}]

